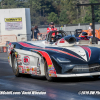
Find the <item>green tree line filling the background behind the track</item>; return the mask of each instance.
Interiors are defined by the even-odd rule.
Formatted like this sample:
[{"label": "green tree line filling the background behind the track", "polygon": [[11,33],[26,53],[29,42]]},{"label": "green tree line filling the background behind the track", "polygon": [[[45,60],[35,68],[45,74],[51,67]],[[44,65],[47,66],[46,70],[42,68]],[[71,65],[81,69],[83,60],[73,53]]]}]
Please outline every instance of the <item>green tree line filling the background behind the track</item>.
[{"label": "green tree line filling the background behind the track", "polygon": [[[0,9],[30,8],[32,25],[91,23],[91,6],[82,3],[100,3],[100,0],[0,0]],[[95,6],[95,22],[100,22],[100,6]]]}]

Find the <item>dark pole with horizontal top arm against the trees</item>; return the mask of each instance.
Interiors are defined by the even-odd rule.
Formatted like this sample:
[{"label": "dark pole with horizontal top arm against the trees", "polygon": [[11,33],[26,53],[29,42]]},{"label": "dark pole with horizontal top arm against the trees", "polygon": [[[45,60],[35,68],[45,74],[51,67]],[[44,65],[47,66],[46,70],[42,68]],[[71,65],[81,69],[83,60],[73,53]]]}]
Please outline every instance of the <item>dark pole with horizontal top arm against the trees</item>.
[{"label": "dark pole with horizontal top arm against the trees", "polygon": [[92,9],[92,26],[93,26],[93,39],[92,39],[92,43],[93,44],[97,44],[98,43],[98,39],[95,37],[95,14],[94,14],[94,6],[95,5],[100,5],[100,3],[90,3],[90,4],[77,4],[77,6],[91,6]]}]

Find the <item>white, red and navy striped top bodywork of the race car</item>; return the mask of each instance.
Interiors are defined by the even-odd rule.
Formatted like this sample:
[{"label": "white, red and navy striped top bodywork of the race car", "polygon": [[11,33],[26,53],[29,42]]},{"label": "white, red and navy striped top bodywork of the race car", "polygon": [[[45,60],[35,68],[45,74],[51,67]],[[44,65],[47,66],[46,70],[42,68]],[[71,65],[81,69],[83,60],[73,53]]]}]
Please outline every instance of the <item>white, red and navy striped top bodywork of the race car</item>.
[{"label": "white, red and navy striped top bodywork of the race car", "polygon": [[46,42],[47,41],[20,42],[19,44],[21,44],[24,47],[27,46],[29,49],[31,48],[31,50],[32,49],[34,50],[35,48],[35,50],[38,49],[38,50],[48,52],[50,53],[50,55],[55,53],[60,53],[60,54],[62,53],[70,57],[84,60],[86,62],[90,61],[90,59],[99,60],[100,49],[97,47],[77,46],[77,45],[59,47],[57,45],[52,45]]}]

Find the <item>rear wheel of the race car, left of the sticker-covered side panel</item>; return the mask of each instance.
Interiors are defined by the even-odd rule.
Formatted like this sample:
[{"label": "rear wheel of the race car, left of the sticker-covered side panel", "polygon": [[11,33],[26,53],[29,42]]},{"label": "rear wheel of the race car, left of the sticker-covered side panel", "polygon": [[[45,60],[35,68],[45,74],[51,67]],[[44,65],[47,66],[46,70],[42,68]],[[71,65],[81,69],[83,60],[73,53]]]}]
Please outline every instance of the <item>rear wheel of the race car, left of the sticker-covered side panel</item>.
[{"label": "rear wheel of the race car, left of the sticker-covered side panel", "polygon": [[19,67],[17,63],[17,59],[15,57],[15,54],[12,54],[12,69],[16,77],[20,77],[21,74],[19,73]]}]

